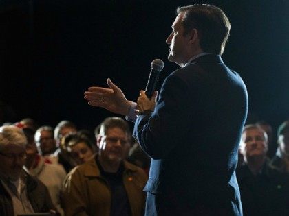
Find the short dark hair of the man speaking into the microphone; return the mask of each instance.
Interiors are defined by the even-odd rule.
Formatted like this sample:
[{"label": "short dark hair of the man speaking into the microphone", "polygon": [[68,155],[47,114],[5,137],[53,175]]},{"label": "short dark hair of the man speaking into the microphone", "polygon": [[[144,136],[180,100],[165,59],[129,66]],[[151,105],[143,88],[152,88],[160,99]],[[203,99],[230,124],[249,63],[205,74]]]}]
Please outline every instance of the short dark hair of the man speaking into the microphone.
[{"label": "short dark hair of the man speaking into the microphone", "polygon": [[222,55],[231,29],[224,12],[214,5],[194,4],[177,8],[177,14],[184,12],[182,25],[184,34],[197,29],[200,47],[203,51]]}]

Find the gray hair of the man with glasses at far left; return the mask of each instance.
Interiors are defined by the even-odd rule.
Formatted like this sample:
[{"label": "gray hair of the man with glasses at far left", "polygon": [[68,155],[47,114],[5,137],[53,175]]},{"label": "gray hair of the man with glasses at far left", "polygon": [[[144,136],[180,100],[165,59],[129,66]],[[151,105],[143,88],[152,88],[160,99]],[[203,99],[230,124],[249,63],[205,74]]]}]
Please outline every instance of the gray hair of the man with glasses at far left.
[{"label": "gray hair of the man with glasses at far left", "polygon": [[0,152],[8,144],[25,147],[27,139],[20,128],[12,125],[0,127]]}]

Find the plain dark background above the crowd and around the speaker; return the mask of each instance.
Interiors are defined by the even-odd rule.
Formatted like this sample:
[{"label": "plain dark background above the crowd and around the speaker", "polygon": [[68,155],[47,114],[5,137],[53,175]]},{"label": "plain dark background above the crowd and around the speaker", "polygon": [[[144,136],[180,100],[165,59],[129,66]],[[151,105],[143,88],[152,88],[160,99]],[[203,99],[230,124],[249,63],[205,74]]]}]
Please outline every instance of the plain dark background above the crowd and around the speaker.
[{"label": "plain dark background above the crowd and around the speaker", "polygon": [[[288,1],[0,1],[0,123],[32,117],[40,125],[74,121],[94,128],[106,110],[83,99],[110,77],[128,99],[143,89],[154,58],[158,87],[178,67],[167,61],[175,8],[220,6],[231,20],[223,60],[244,79],[248,123],[289,119]],[[230,106],[230,104],[228,104]]]}]

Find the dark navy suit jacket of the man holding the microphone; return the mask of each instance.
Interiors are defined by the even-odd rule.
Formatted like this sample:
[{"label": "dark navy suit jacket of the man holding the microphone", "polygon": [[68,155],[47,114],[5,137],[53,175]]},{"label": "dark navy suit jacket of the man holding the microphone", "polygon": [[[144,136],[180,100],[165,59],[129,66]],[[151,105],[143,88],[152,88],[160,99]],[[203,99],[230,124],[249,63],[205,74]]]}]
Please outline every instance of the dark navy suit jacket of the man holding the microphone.
[{"label": "dark navy suit jacket of the man holding the microphone", "polygon": [[235,168],[247,112],[246,86],[220,56],[171,73],[155,110],[134,127],[152,158],[144,190],[171,197],[166,208],[178,215],[242,215]]}]

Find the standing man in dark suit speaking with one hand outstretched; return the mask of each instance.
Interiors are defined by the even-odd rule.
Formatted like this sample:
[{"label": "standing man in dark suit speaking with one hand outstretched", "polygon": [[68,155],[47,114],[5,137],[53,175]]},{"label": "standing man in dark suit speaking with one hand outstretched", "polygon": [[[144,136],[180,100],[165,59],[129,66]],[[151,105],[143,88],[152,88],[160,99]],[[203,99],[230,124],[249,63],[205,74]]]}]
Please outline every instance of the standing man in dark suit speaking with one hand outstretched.
[{"label": "standing man in dark suit speaking with one hand outstretched", "polygon": [[[151,99],[140,91],[134,134],[151,156],[146,215],[242,215],[235,176],[248,112],[246,86],[220,55],[230,31],[213,5],[178,8],[167,38],[173,71]],[[91,87],[89,105],[122,115],[136,106],[120,88]]]}]

